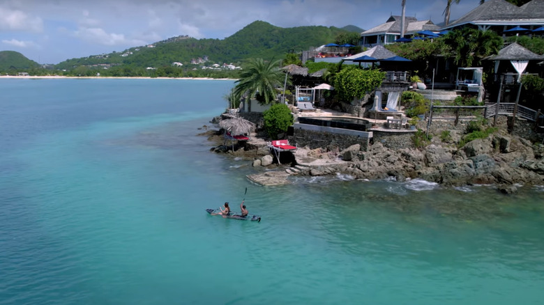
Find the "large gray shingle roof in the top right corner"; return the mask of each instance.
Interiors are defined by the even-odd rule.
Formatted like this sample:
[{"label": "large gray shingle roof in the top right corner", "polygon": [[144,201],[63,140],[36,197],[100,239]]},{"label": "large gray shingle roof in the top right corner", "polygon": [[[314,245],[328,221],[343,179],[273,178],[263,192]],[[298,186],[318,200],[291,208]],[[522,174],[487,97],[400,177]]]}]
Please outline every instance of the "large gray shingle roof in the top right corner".
[{"label": "large gray shingle roof in the top right corner", "polygon": [[490,24],[490,22],[522,21],[537,19],[544,21],[544,0],[532,0],[517,7],[505,0],[488,0],[469,13],[455,20],[444,29],[460,24]]}]

